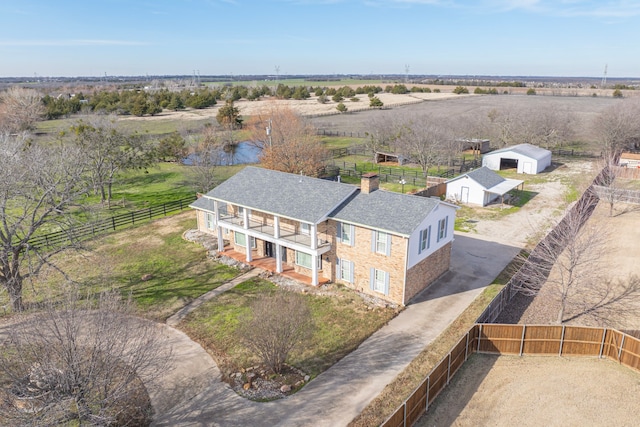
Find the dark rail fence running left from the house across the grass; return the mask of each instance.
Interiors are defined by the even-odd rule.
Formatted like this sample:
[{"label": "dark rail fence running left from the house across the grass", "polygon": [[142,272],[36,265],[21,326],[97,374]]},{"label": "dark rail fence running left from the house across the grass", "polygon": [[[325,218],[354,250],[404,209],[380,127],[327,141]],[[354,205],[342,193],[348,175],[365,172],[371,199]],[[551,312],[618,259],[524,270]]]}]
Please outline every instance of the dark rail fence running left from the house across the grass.
[{"label": "dark rail fence running left from the house across the grass", "polygon": [[166,216],[172,212],[182,211],[189,207],[194,200],[195,197],[174,200],[173,202],[167,202],[161,205],[151,206],[120,215],[114,215],[111,218],[105,218],[100,221],[83,224],[70,230],[61,230],[42,236],[36,236],[29,240],[29,245],[36,248],[53,248],[62,244],[67,244],[71,241],[89,239],[99,234],[115,231],[116,229],[127,225],[133,225],[159,216]]}]

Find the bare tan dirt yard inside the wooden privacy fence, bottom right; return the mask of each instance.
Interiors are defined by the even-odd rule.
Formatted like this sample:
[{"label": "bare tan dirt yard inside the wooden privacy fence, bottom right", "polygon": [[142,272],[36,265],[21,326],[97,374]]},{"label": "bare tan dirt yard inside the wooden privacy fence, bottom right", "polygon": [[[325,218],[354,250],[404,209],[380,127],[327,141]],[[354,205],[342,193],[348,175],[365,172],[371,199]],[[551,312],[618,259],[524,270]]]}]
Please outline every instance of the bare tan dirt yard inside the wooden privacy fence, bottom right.
[{"label": "bare tan dirt yard inside the wooden privacy fence, bottom right", "polygon": [[473,355],[416,425],[636,426],[640,373],[594,358]]}]

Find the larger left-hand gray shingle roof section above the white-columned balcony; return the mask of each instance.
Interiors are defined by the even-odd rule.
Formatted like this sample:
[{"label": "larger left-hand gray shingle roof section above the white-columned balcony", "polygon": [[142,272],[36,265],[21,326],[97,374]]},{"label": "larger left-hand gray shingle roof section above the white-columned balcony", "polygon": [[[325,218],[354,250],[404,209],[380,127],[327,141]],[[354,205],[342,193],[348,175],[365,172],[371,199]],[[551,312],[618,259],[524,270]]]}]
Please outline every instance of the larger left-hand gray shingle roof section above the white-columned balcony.
[{"label": "larger left-hand gray shingle roof section above the white-columned balcony", "polygon": [[[357,187],[308,176],[247,166],[206,195],[227,203],[299,221],[318,223]],[[203,198],[191,206],[213,210]]]}]

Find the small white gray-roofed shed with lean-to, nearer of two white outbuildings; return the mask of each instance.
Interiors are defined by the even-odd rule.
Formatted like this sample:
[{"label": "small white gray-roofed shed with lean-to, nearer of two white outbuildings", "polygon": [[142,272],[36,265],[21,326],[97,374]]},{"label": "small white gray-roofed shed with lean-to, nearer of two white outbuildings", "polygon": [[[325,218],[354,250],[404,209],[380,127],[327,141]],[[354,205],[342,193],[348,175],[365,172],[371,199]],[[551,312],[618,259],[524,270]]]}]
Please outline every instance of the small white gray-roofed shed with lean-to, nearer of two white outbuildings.
[{"label": "small white gray-roofed shed with lean-to, nearer of two white outbuildings", "polygon": [[447,200],[458,203],[486,206],[504,198],[509,191],[523,181],[503,178],[486,167],[467,172],[447,181]]}]

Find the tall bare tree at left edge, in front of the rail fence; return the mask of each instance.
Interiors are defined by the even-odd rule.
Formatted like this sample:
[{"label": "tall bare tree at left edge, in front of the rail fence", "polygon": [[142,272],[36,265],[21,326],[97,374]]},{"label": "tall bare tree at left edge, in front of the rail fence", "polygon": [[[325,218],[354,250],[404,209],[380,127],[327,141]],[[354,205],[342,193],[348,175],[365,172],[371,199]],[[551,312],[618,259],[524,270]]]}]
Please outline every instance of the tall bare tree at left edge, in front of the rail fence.
[{"label": "tall bare tree at left edge, in front of the rail fence", "polygon": [[[32,143],[27,136],[0,135],[0,287],[14,311],[22,311],[25,280],[52,257],[73,246],[70,209],[88,186],[80,150]],[[34,243],[38,234],[61,231],[56,246]]]}]

